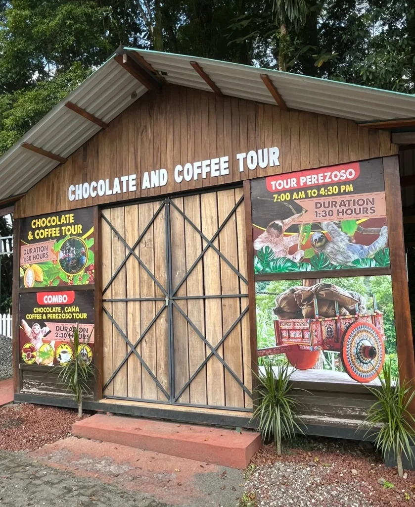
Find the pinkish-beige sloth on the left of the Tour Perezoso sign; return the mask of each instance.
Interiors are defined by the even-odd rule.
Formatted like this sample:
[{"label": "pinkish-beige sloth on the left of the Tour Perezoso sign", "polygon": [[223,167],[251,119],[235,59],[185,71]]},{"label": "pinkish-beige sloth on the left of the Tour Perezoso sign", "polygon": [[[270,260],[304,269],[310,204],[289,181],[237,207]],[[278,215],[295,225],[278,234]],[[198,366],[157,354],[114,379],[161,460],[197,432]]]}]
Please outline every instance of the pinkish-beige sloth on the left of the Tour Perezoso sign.
[{"label": "pinkish-beige sloth on the left of the Tour Perezoso sign", "polygon": [[255,250],[259,250],[260,248],[264,248],[269,246],[271,250],[274,252],[274,256],[276,258],[286,257],[294,262],[300,262],[304,257],[304,251],[299,247],[295,253],[288,255],[288,250],[291,246],[300,244],[299,234],[292,234],[290,236],[284,236],[284,232],[294,224],[304,213],[307,212],[306,209],[303,209],[301,213],[295,213],[294,208],[287,203],[284,203],[288,206],[292,211],[293,215],[285,220],[274,220],[271,222],[265,232],[263,232],[260,236],[258,236],[254,241]]}]

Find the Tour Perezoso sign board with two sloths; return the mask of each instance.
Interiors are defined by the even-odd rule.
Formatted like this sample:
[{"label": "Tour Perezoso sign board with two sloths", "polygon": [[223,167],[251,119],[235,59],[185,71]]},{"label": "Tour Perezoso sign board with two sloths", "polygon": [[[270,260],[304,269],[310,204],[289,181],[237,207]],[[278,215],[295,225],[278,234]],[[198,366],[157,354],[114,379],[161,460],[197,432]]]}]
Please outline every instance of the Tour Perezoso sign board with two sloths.
[{"label": "Tour Perezoso sign board with two sloths", "polygon": [[251,200],[256,274],[390,265],[381,159],[258,178]]}]

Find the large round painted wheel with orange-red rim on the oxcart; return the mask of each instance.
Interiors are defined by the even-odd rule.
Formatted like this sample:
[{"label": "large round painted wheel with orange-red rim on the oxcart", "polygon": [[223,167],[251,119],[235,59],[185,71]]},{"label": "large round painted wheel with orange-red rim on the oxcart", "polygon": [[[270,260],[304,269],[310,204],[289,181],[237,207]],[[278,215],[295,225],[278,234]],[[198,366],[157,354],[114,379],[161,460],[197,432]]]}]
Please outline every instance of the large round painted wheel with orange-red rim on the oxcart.
[{"label": "large round painted wheel with orange-red rim on the oxcart", "polygon": [[385,360],[385,345],[378,329],[370,322],[353,322],[343,337],[342,360],[353,380],[365,383],[375,379]]}]

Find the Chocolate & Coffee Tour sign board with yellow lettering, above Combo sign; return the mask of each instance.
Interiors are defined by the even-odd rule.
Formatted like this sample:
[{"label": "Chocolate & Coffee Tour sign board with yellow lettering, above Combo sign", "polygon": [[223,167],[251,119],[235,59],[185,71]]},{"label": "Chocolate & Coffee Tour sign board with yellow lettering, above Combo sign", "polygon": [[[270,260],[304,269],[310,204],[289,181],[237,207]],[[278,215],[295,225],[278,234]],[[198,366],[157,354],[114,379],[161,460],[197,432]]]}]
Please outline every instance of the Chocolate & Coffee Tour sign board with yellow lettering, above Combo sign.
[{"label": "Chocolate & Coffee Tour sign board with yellow lettering, above Combo sign", "polygon": [[94,283],[93,209],[21,220],[20,287]]}]

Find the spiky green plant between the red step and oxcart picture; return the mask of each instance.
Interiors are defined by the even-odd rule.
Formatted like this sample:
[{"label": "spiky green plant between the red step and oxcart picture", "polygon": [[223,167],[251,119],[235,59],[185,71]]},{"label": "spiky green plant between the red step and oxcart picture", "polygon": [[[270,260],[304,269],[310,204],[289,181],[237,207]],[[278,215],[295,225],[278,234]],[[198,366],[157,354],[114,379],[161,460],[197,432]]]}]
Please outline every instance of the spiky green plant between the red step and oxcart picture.
[{"label": "spiky green plant between the red step and oxcart picture", "polygon": [[253,419],[258,421],[258,429],[263,437],[274,439],[279,456],[282,439],[292,440],[296,430],[303,433],[297,423],[297,412],[301,404],[295,400],[292,394],[294,387],[290,382],[295,369],[290,369],[286,364],[280,366],[275,373],[272,363],[266,363],[256,376],[258,385],[254,389],[258,396],[258,406]]}]

